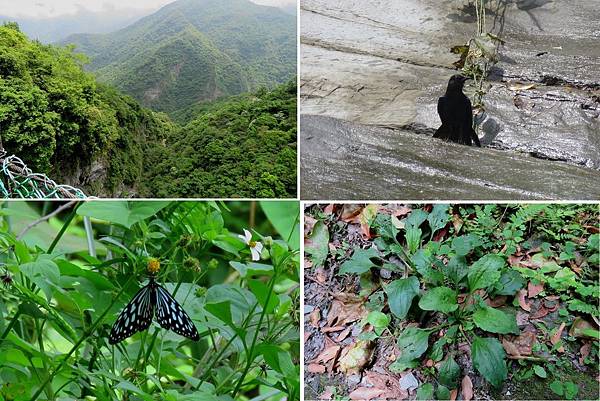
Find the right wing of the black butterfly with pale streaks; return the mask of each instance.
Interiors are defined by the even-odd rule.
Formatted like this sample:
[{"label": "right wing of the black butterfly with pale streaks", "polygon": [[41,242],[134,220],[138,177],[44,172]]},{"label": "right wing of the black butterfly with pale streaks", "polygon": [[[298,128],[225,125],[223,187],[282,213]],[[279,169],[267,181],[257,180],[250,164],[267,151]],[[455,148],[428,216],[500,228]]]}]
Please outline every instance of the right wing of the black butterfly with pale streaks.
[{"label": "right wing of the black butterfly with pale streaks", "polygon": [[156,321],[161,327],[198,341],[200,335],[192,319],[181,305],[159,284],[156,284]]}]

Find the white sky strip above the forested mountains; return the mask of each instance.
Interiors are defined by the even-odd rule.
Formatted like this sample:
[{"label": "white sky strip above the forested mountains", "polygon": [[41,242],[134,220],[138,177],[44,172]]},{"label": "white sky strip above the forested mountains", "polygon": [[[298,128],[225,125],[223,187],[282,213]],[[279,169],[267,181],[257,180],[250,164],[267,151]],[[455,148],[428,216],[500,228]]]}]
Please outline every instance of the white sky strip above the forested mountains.
[{"label": "white sky strip above the forested mountains", "polygon": [[[75,14],[80,9],[96,12],[135,8],[155,10],[173,1],[175,0],[0,0],[0,15],[48,18]],[[288,6],[296,3],[296,0],[251,1],[269,6]]]}]

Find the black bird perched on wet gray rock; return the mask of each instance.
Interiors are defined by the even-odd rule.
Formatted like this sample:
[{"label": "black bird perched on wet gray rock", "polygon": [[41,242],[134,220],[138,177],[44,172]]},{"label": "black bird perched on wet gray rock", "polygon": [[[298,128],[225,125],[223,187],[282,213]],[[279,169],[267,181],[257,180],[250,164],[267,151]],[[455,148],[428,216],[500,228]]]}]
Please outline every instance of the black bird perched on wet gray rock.
[{"label": "black bird perched on wet gray rock", "polygon": [[433,137],[469,146],[475,143],[481,147],[479,138],[473,130],[471,101],[462,93],[467,79],[469,78],[456,74],[448,81],[446,93],[438,100],[438,114],[442,126]]}]

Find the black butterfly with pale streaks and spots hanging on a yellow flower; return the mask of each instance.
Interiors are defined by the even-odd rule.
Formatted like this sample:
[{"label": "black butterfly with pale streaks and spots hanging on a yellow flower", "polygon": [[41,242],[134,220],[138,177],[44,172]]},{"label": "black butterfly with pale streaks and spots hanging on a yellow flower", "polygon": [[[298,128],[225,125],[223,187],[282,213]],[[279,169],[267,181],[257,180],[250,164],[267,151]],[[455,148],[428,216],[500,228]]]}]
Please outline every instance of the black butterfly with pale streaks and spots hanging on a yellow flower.
[{"label": "black butterfly with pale streaks and spots hanging on a yellow flower", "polygon": [[146,330],[154,316],[164,329],[194,341],[200,338],[192,319],[181,305],[151,276],[150,282],[135,294],[119,314],[110,330],[109,344],[116,344],[138,331]]}]

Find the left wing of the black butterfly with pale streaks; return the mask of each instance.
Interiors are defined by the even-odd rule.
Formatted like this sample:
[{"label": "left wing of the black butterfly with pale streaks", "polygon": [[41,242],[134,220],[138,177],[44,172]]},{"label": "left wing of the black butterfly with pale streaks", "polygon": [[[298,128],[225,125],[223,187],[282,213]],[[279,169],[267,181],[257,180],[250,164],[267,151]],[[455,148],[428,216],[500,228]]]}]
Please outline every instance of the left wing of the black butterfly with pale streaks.
[{"label": "left wing of the black butterfly with pale streaks", "polygon": [[119,314],[117,321],[110,330],[109,344],[116,344],[138,331],[146,330],[154,315],[152,282],[141,288]]}]

